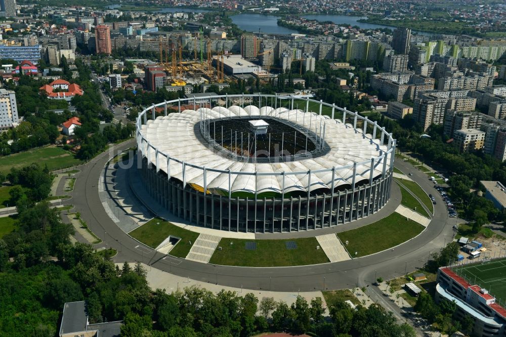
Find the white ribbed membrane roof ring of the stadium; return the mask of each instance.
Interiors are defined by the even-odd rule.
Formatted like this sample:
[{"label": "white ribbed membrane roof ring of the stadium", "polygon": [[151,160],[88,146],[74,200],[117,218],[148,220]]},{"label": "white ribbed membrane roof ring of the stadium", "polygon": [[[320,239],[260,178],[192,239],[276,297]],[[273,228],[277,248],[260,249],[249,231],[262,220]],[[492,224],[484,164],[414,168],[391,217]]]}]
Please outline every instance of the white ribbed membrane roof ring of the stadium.
[{"label": "white ribbed membrane roof ring of the stadium", "polygon": [[[311,115],[310,115],[311,114]],[[201,115],[205,118],[223,118],[235,116],[270,116],[290,120],[302,127],[311,128],[314,132],[316,123],[325,124],[325,142],[330,150],[323,155],[314,158],[304,158],[296,161],[282,161],[274,163],[245,162],[229,157],[212,146],[206,145],[205,141],[197,139],[195,124],[199,122]],[[305,115],[305,116],[304,116]],[[259,118],[260,119],[260,118]],[[311,120],[311,121],[310,121]],[[379,129],[379,128],[378,128]],[[148,160],[156,165],[155,149],[171,157],[170,176],[183,182],[183,165],[172,158],[186,164],[205,166],[205,185],[208,190],[229,190],[228,172],[214,172],[214,170],[232,172],[231,192],[244,191],[255,193],[262,192],[291,192],[315,190],[319,188],[331,188],[332,167],[335,167],[334,188],[351,185],[353,181],[353,164],[357,165],[355,183],[367,181],[370,177],[371,158],[375,158],[373,177],[382,174],[383,158],[379,156],[388,150],[386,145],[380,145],[379,139],[372,139],[371,135],[364,135],[361,130],[355,130],[350,124],[343,124],[341,120],[330,119],[328,116],[318,115],[312,112],[304,113],[302,110],[288,110],[286,108],[274,109],[269,106],[258,108],[246,106],[241,108],[234,105],[227,108],[215,107],[213,109],[200,108],[184,110],[181,113],[171,113],[167,116],[148,120],[142,125],[141,136],[150,144],[149,154],[146,152],[147,143],[142,142],[140,150]],[[201,137],[200,137],[201,138]],[[390,157],[390,156],[389,156]],[[167,173],[165,157],[158,160],[159,170]],[[347,166],[343,168],[343,166]],[[389,162],[387,162],[387,169]],[[327,170],[318,172],[319,170]],[[311,171],[309,179],[308,172]],[[234,174],[242,173],[242,174]],[[257,178],[254,173],[258,173]],[[285,175],[279,175],[284,172]],[[248,175],[248,173],[253,175]],[[265,175],[273,173],[277,175]],[[204,175],[201,168],[186,165],[186,183],[204,186]],[[284,183],[284,190],[283,190]]]}]

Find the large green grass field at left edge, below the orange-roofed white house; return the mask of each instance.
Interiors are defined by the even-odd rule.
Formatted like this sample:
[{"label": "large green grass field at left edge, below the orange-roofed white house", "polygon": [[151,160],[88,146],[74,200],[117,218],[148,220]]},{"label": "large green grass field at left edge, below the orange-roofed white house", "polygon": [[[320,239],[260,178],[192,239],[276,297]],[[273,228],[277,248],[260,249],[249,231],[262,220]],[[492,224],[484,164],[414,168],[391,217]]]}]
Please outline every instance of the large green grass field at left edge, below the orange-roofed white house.
[{"label": "large green grass field at left edge, below the orange-roofed white house", "polygon": [[49,171],[82,163],[69,151],[60,147],[47,146],[1,157],[0,172],[7,174],[12,167],[22,167],[33,162],[41,166],[48,165]]}]

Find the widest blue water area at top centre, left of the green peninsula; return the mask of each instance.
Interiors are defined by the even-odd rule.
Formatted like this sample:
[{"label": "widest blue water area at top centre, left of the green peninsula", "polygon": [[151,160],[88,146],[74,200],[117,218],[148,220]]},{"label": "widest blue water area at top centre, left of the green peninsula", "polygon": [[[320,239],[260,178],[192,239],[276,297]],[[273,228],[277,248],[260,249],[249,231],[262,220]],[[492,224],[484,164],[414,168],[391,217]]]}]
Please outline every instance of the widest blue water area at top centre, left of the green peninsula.
[{"label": "widest blue water area at top centre, left of the green peninsula", "polygon": [[230,18],[233,23],[245,31],[258,33],[260,28],[261,32],[268,34],[298,33],[297,30],[278,26],[279,17],[274,15],[242,13],[233,15]]}]

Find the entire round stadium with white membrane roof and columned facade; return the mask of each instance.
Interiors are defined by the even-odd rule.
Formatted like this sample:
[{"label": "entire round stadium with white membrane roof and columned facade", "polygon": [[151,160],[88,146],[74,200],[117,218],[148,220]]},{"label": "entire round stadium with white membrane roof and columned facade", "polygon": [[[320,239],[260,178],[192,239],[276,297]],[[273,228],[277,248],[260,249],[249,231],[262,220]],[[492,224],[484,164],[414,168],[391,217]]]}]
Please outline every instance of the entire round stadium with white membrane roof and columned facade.
[{"label": "entire round stadium with white membrane roof and columned facade", "polygon": [[390,197],[392,135],[356,112],[308,98],[165,101],[139,114],[136,140],[146,189],[196,226],[326,228],[365,218]]}]

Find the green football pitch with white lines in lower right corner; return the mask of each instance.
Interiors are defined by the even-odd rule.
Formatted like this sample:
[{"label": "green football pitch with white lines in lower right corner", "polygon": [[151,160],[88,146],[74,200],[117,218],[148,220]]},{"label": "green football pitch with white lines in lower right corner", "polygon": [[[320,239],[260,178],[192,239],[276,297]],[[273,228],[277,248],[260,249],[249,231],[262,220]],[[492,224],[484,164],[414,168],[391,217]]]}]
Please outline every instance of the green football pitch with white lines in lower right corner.
[{"label": "green football pitch with white lines in lower right corner", "polygon": [[496,302],[506,301],[506,259],[457,266],[452,270],[469,283],[489,290]]}]

